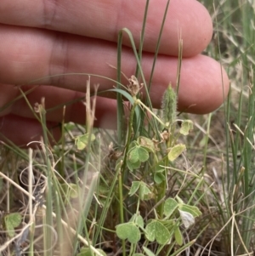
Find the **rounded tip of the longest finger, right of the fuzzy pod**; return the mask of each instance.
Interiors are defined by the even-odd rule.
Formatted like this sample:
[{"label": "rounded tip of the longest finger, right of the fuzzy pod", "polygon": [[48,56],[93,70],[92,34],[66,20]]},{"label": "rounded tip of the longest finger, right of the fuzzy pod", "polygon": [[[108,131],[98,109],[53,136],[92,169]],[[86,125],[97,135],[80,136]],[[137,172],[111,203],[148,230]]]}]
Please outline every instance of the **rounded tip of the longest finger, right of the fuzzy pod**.
[{"label": "rounded tip of the longest finger, right of the fuzzy pod", "polygon": [[229,94],[229,77],[224,67],[207,56],[192,58],[195,69],[189,71],[190,61],[184,61],[183,79],[179,88],[179,111],[207,114],[215,111]]}]

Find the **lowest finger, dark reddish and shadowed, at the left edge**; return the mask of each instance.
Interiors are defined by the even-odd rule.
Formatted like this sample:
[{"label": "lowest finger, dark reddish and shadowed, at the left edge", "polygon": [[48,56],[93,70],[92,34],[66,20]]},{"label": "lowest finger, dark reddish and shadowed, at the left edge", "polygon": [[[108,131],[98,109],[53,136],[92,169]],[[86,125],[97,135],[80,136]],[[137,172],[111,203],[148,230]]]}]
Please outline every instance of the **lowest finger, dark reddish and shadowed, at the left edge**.
[{"label": "lowest finger, dark reddish and shadowed, at the left edge", "polygon": [[[61,129],[56,122],[48,122],[49,144],[54,145],[61,136]],[[42,124],[30,118],[7,115],[0,117],[0,143],[13,142],[15,145],[25,147],[27,143],[34,141],[32,147],[39,146],[42,141]],[[38,143],[37,143],[38,142]]]}]

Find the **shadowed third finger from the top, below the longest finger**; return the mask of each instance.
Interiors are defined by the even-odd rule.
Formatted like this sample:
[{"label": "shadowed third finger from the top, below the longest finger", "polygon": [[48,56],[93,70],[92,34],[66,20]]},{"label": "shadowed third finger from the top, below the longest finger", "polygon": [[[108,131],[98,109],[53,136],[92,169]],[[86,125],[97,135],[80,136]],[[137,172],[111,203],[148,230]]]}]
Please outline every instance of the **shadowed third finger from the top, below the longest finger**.
[{"label": "shadowed third finger from the top, below the longest finger", "polygon": [[[5,86],[1,85],[0,88]],[[11,87],[8,85],[8,88]],[[26,94],[26,100],[24,97],[20,100],[15,100],[7,109],[4,108],[4,105],[1,105],[2,102],[0,101],[0,110],[1,108],[4,109],[3,112],[0,111],[0,117],[12,114],[17,117],[36,119],[38,115],[35,113],[34,107],[36,104],[41,103],[43,97],[48,122],[86,123],[85,94],[49,86],[40,86],[33,88],[33,90],[31,88],[33,87],[26,86],[22,88],[24,94]],[[14,98],[18,97],[20,91],[16,87],[13,87],[13,90],[16,93]],[[9,91],[13,94],[11,90]],[[29,91],[31,92],[27,94]],[[14,100],[14,98],[11,100]],[[93,107],[94,97],[91,98],[91,105]],[[101,128],[116,128],[116,100],[96,97],[94,125]]]}]

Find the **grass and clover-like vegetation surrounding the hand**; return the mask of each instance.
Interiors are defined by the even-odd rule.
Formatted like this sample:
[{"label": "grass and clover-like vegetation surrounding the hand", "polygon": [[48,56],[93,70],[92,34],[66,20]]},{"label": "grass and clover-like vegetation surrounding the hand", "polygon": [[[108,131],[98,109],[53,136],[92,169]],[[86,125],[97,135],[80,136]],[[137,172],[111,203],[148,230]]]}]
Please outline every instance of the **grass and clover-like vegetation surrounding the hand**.
[{"label": "grass and clover-like vegetation surrounding the hand", "polygon": [[[42,151],[11,143],[0,149],[0,253],[252,255],[254,3],[201,2],[211,10],[216,30],[206,54],[222,61],[232,80],[224,107],[205,117],[179,115],[178,88],[169,85],[161,111],[152,109],[155,62],[148,82],[141,68],[147,1],[139,50],[127,28],[118,37],[116,88],[110,90],[118,100],[116,134],[94,128],[94,105],[87,105],[86,124],[63,123],[63,137],[51,147],[45,122],[50,110],[42,100],[36,108],[30,105],[42,123]],[[121,80],[123,33],[137,60],[127,87]],[[178,68],[181,48],[180,42]],[[89,79],[87,93],[88,104]],[[130,106],[127,127],[123,99]],[[219,131],[218,119],[224,126]]]}]

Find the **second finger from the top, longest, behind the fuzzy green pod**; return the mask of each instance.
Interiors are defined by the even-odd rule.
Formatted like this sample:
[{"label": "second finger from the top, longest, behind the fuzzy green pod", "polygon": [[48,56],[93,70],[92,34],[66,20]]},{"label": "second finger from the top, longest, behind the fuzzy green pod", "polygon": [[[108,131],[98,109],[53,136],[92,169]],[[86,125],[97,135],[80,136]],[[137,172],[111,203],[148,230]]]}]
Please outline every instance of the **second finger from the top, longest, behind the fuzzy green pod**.
[{"label": "second finger from the top, longest, behind the fuzzy green pod", "polygon": [[[42,37],[41,31],[26,28],[23,32],[17,28],[9,31],[3,26],[2,30],[0,29],[5,39],[0,42],[0,60],[4,60],[0,62],[0,81],[2,82],[26,83],[38,77],[45,77],[41,80],[43,84],[84,92],[87,77],[47,76],[86,71],[111,79],[116,78],[116,69],[110,66],[116,66],[114,43],[65,34],[55,38],[49,31],[44,31]],[[14,40],[14,35],[17,40]],[[146,81],[150,77],[152,61],[153,54],[143,54],[142,67]],[[130,77],[135,72],[135,66],[133,52],[129,48],[123,48],[122,72]],[[172,82],[173,86],[176,86],[177,66],[176,58],[166,55],[158,56],[151,88],[151,100],[155,107],[160,106],[161,96],[168,83]],[[123,82],[126,83],[126,80]],[[99,83],[99,91],[112,88],[115,84],[105,78],[91,77],[91,84],[96,83]],[[182,60],[178,95],[180,111],[196,113],[212,111],[222,104],[228,90],[228,77],[215,60],[202,55]]]}]

